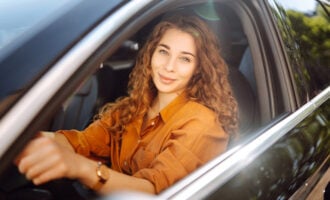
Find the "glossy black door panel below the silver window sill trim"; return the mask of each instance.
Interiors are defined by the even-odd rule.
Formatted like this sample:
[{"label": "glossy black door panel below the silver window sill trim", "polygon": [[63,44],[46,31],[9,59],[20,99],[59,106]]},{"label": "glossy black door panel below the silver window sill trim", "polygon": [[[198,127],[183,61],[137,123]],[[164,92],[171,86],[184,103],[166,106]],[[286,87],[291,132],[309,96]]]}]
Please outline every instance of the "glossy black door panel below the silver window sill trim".
[{"label": "glossy black door panel below the silver window sill trim", "polygon": [[[289,199],[318,169],[316,179],[329,168],[329,130],[330,100],[206,198]],[[314,185],[296,198],[305,199]]]}]

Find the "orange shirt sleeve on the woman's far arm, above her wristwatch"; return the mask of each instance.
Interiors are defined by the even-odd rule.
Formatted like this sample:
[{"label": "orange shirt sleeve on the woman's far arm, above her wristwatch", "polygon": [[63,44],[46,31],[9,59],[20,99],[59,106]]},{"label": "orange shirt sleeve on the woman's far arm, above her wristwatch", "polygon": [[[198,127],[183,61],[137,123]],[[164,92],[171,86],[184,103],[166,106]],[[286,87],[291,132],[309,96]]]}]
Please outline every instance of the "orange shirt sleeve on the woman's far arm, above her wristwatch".
[{"label": "orange shirt sleeve on the woman's far arm, above her wristwatch", "polygon": [[59,130],[74,150],[86,157],[109,157],[110,134],[107,130],[107,119],[99,119],[91,123],[85,130]]}]

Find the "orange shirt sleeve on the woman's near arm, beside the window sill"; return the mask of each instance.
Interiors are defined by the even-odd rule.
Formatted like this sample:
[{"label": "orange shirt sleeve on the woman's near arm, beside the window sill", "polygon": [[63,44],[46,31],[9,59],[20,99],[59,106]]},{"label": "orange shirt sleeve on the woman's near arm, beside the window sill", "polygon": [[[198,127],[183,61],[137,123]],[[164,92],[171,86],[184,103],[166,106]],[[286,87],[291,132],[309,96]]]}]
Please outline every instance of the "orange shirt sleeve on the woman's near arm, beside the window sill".
[{"label": "orange shirt sleeve on the woman's near arm, beside the window sill", "polygon": [[171,132],[170,139],[150,167],[137,171],[133,176],[149,180],[159,193],[224,152],[227,143],[227,134],[214,118],[203,119],[201,116],[190,119]]}]

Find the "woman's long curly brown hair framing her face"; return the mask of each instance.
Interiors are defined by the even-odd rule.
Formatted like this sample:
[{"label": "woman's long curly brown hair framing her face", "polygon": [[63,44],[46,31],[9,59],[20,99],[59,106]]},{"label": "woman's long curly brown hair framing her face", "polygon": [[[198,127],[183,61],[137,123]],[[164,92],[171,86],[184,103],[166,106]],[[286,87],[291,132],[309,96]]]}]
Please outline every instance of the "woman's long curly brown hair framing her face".
[{"label": "woman's long curly brown hair framing her face", "polygon": [[168,29],[189,33],[195,40],[197,68],[186,88],[188,97],[213,110],[228,134],[237,130],[237,103],[228,81],[228,68],[220,56],[217,37],[196,16],[172,16],[163,19],[153,29],[130,74],[128,96],[105,105],[100,116],[111,117],[110,132],[120,136],[125,125],[137,117],[143,117],[157,95],[151,78],[151,58],[156,46]]}]

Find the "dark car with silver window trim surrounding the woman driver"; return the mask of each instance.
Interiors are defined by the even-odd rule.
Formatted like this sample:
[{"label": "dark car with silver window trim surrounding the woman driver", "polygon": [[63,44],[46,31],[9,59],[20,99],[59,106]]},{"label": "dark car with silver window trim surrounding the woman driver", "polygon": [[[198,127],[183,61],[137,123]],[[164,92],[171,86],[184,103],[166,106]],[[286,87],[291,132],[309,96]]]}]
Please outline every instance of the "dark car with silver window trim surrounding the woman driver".
[{"label": "dark car with silver window trim surrounding the woman driver", "polygon": [[[328,0],[0,2],[0,199],[329,198],[329,9]],[[35,186],[20,175],[13,162],[36,133],[81,130],[126,95],[138,50],[174,12],[218,36],[239,139],[158,195],[97,197],[74,180]]]}]

